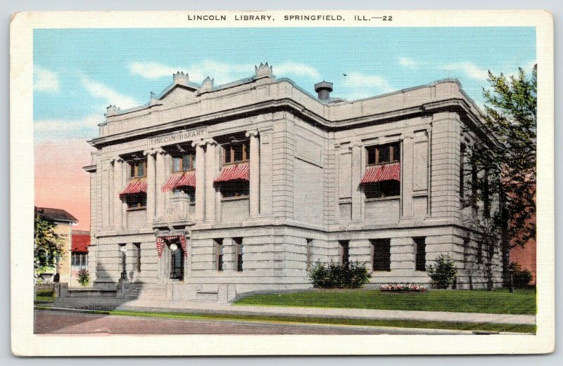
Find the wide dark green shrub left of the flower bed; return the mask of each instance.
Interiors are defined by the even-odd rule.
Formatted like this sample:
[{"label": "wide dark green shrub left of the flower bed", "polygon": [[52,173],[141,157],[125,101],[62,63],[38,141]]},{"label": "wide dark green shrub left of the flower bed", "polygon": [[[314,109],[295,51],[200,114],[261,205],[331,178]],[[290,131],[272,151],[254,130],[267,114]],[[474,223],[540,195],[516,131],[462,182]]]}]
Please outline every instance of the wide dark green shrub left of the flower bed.
[{"label": "wide dark green shrub left of the flower bed", "polygon": [[330,262],[328,266],[317,261],[309,270],[309,278],[313,287],[322,289],[348,288],[358,289],[365,285],[372,275],[365,264],[350,262],[339,264]]}]

